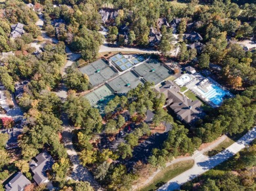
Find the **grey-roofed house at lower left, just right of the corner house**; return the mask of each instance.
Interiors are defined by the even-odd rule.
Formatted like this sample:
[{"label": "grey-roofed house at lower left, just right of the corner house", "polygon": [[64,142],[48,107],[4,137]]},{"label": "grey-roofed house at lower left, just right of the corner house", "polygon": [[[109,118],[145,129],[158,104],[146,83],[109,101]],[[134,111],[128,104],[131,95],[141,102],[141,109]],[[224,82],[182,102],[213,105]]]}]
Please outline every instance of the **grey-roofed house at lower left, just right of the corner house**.
[{"label": "grey-roofed house at lower left, just right of the corner house", "polygon": [[41,152],[35,157],[35,160],[30,162],[30,169],[33,172],[33,179],[35,182],[37,182],[37,184],[49,182],[46,171],[51,169],[53,164],[53,158],[48,152]]}]

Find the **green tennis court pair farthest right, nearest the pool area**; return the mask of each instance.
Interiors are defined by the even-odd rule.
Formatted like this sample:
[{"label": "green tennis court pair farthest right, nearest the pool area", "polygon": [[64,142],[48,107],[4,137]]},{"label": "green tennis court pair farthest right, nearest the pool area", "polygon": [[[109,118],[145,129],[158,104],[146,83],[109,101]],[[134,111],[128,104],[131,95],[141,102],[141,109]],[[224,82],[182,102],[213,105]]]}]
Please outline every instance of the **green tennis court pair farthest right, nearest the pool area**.
[{"label": "green tennis court pair farthest right, nearest the pool area", "polygon": [[140,77],[143,77],[144,80],[154,82],[154,84],[158,84],[171,75],[171,71],[167,69],[167,67],[164,67],[160,62],[154,60],[147,61],[135,67],[135,72],[138,73]]}]

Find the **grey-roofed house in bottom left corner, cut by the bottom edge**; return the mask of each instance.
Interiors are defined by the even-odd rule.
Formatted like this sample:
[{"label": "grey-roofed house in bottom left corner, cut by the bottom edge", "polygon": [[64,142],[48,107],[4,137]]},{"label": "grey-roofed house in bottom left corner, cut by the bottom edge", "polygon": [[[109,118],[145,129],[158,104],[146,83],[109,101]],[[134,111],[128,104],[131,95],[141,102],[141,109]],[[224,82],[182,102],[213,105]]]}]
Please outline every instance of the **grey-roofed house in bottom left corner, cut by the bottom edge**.
[{"label": "grey-roofed house in bottom left corner, cut by the bottom edge", "polygon": [[18,172],[15,177],[5,185],[5,191],[23,191],[28,184],[31,184],[31,182],[21,172]]}]

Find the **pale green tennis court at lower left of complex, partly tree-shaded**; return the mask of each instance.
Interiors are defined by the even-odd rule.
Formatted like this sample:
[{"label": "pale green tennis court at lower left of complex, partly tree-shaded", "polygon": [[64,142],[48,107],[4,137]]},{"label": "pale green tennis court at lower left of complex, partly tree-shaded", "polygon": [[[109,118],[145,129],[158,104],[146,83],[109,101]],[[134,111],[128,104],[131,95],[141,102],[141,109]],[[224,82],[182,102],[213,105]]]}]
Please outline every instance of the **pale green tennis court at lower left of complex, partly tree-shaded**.
[{"label": "pale green tennis court at lower left of complex, partly tree-shaded", "polygon": [[89,100],[92,106],[98,107],[100,104],[110,101],[110,99],[112,99],[111,97],[114,97],[114,94],[110,88],[104,85],[93,92],[86,94],[84,97]]}]

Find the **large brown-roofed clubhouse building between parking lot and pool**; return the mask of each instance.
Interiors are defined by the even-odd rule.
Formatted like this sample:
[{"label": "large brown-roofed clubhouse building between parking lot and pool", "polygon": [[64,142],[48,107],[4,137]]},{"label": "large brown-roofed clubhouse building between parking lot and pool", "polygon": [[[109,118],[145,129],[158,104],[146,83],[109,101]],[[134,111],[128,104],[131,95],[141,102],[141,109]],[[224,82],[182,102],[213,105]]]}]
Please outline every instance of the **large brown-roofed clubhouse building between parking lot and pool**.
[{"label": "large brown-roofed clubhouse building between parking lot and pool", "polygon": [[165,82],[165,85],[155,88],[155,91],[165,95],[166,105],[173,109],[181,121],[193,124],[204,115],[200,110],[202,102],[199,100],[192,101],[182,96],[179,90],[180,88],[169,80]]}]

